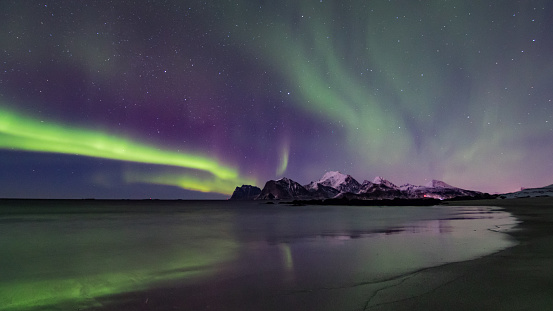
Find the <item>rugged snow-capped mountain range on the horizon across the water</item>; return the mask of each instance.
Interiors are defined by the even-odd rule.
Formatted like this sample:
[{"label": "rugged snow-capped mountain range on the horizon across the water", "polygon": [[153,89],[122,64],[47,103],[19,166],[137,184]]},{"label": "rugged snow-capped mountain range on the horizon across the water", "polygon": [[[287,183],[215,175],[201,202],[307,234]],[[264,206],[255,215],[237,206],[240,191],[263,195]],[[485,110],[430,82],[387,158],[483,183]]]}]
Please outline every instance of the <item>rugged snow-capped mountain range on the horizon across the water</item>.
[{"label": "rugged snow-capped mountain range on the horizon across the water", "polygon": [[[252,198],[253,193],[256,193],[257,190],[250,187],[252,186],[244,185],[242,187],[237,187],[231,199],[235,200],[244,197]],[[455,197],[477,197],[481,195],[483,195],[483,193],[457,188],[440,180],[432,180],[424,186],[404,184],[398,187],[394,183],[379,176],[374,178],[372,182],[365,180],[362,184],[359,184],[351,175],[331,171],[325,173],[321,179],[305,186],[286,177],[279,180],[269,180],[265,184],[265,187],[263,187],[263,190],[261,190],[261,193],[253,199],[320,200],[342,198],[382,200],[434,198],[443,200]]]}]

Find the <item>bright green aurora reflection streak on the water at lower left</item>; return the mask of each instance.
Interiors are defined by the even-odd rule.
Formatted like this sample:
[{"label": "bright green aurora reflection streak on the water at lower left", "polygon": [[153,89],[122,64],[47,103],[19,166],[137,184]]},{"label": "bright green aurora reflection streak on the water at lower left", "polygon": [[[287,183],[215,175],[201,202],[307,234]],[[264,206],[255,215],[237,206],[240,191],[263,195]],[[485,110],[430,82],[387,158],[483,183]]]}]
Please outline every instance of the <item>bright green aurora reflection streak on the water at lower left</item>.
[{"label": "bright green aurora reflection streak on the water at lower left", "polygon": [[214,269],[205,267],[229,256],[223,252],[215,252],[212,254],[214,257],[210,257],[191,255],[190,252],[184,251],[181,255],[182,258],[186,258],[181,259],[181,262],[178,262],[177,258],[172,258],[172,261],[166,263],[165,260],[159,261],[160,265],[167,265],[164,268],[167,268],[170,274],[155,271],[153,267],[157,266],[153,265],[152,268],[143,267],[121,272],[0,283],[0,310],[26,310],[59,304],[98,306],[95,300],[98,297],[146,290],[149,286],[164,281],[208,276]]}]

